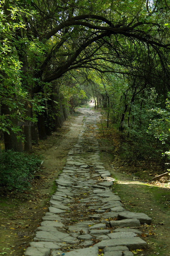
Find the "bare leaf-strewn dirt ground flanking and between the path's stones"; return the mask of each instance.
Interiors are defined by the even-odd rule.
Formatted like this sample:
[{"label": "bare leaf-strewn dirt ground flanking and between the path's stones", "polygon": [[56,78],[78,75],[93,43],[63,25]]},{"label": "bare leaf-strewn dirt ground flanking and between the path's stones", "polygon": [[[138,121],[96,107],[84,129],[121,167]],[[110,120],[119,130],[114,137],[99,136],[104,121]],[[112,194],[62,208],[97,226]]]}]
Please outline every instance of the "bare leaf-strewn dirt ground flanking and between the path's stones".
[{"label": "bare leaf-strewn dirt ground flanking and between the path's stones", "polygon": [[[4,242],[2,243],[2,246],[1,246],[1,244],[0,244],[0,246],[1,246],[1,248],[5,247],[6,249],[10,249],[9,251],[4,250],[3,252],[7,252],[9,255],[14,255],[14,256],[22,256],[23,255],[23,249],[25,249],[28,246],[28,242],[33,240],[33,237],[35,235],[34,230],[37,226],[40,225],[41,217],[47,211],[46,209],[48,207],[48,200],[50,198],[50,195],[52,193],[54,193],[56,190],[54,180],[61,173],[61,170],[63,169],[64,165],[66,164],[66,161],[68,161],[67,154],[70,149],[74,149],[74,145],[76,144],[76,142],[78,140],[78,135],[81,134],[82,129],[87,129],[88,133],[87,133],[87,135],[85,135],[86,136],[85,138],[86,138],[86,141],[88,140],[88,138],[90,138],[90,141],[88,143],[91,143],[92,138],[95,138],[96,135],[98,134],[97,127],[93,126],[93,125],[95,125],[96,122],[100,119],[99,113],[94,112],[93,110],[91,110],[89,108],[80,108],[78,111],[79,111],[80,115],[76,116],[74,118],[74,120],[72,120],[73,122],[71,123],[71,126],[70,126],[70,123],[68,123],[68,122],[65,123],[65,126],[64,126],[65,133],[63,136],[58,136],[59,134],[54,133],[53,136],[49,138],[47,145],[43,145],[43,147],[41,145],[39,148],[35,148],[35,150],[41,149],[42,154],[45,156],[43,165],[46,168],[42,169],[42,171],[40,173],[41,179],[34,181],[35,184],[33,184],[32,194],[26,195],[26,196],[28,196],[27,199],[31,199],[31,200],[29,200],[29,202],[28,202],[28,200],[25,200],[26,198],[24,198],[23,199],[23,200],[25,200],[24,205],[21,203],[21,209],[19,211],[20,215],[19,216],[17,215],[17,219],[19,217],[20,221],[18,221],[18,220],[16,221],[16,216],[9,215],[8,218],[6,218],[6,222],[8,224],[6,225],[3,222],[2,226],[1,226],[2,231],[3,231],[2,232],[3,236],[2,236],[1,240]],[[67,132],[68,126],[70,126],[69,132]],[[91,138],[91,135],[92,135],[92,138]],[[163,189],[163,188],[161,189],[158,187],[155,188],[153,186],[147,186],[147,184],[143,184],[143,183],[132,181],[132,180],[128,181],[127,179],[129,179],[129,176],[127,176],[125,173],[122,173],[121,168],[119,168],[119,167],[116,168],[116,164],[113,165],[113,161],[114,161],[113,154],[112,154],[112,151],[114,150],[113,145],[107,140],[99,140],[99,142],[100,142],[100,153],[99,152],[98,153],[101,158],[101,164],[103,163],[105,170],[108,170],[112,174],[113,177],[118,179],[118,182],[114,184],[114,192],[118,193],[118,195],[121,197],[121,199],[123,201],[122,203],[123,203],[125,209],[130,210],[131,212],[132,211],[133,212],[145,212],[146,214],[148,214],[149,216],[152,216],[152,218],[153,218],[153,225],[145,225],[145,227],[143,227],[143,229],[142,229],[143,236],[144,237],[147,236],[146,238],[147,238],[147,242],[149,242],[149,249],[144,250],[142,252],[133,250],[133,253],[134,254],[137,253],[138,255],[151,255],[151,256],[153,256],[153,255],[169,255],[169,251],[170,251],[168,248],[168,243],[169,243],[169,241],[168,241],[168,233],[169,233],[168,221],[169,221],[169,219],[168,219],[168,213],[167,213],[167,208],[166,208],[167,207],[166,203],[168,201],[167,189]],[[92,147],[90,148],[90,150],[93,150]],[[76,151],[76,152],[78,152],[78,151]],[[73,150],[72,153],[74,154],[75,151]],[[80,153],[81,153],[81,151],[80,151]],[[87,152],[86,152],[86,154],[87,154]],[[88,154],[91,154],[91,151]],[[78,155],[76,154],[76,156],[78,156]],[[99,161],[99,160],[97,160],[97,161]],[[74,166],[72,166],[72,167],[74,167]],[[86,168],[85,168],[85,171],[86,171]],[[90,169],[90,172],[94,172],[94,170]],[[87,175],[87,173],[86,173],[86,175]],[[90,173],[90,177],[91,177],[91,175],[94,175],[94,173]],[[81,179],[81,176],[82,175],[80,175],[78,180]],[[91,177],[90,179],[93,180],[93,178]],[[97,182],[99,182],[99,181],[97,181]],[[104,189],[106,189],[106,188],[104,188]],[[158,190],[157,193],[155,193],[156,190]],[[79,193],[79,190],[78,190],[78,193]],[[88,193],[87,193],[87,191],[84,191],[83,194],[88,194]],[[79,201],[81,198],[86,197],[86,195],[83,195],[83,194],[81,194],[80,198],[76,199],[76,200]],[[157,195],[157,199],[156,199],[156,195]],[[78,198],[78,196],[76,196],[76,197]],[[21,199],[18,199],[18,200],[20,200],[20,202],[21,202]],[[161,203],[160,203],[160,201],[161,201]],[[13,203],[18,204],[18,202],[16,200]],[[11,206],[14,206],[15,204],[11,204]],[[18,207],[18,205],[17,205],[17,207]],[[35,210],[33,210],[33,209],[35,209]],[[30,214],[30,210],[32,211],[31,214]],[[78,209],[71,209],[71,212],[74,213],[74,210],[78,211]],[[91,213],[96,214],[96,213],[94,213],[95,210],[96,209],[92,209],[93,212],[91,212]],[[17,211],[18,211],[18,209],[17,209]],[[88,210],[88,212],[89,212],[89,210]],[[106,210],[105,213],[107,213],[107,212],[110,212],[109,208]],[[70,213],[67,212],[66,215],[69,215],[69,214]],[[90,213],[88,213],[88,214],[90,214]],[[83,217],[85,217],[87,215],[87,211],[84,211],[83,214],[81,214],[81,215],[83,215]],[[25,220],[24,220],[24,217],[25,217]],[[12,219],[12,218],[15,218],[15,219]],[[5,218],[3,218],[3,219],[5,219]],[[23,220],[21,220],[21,219],[23,219]],[[74,213],[74,216],[71,216],[71,219],[73,220],[72,223],[76,223],[76,221],[78,220],[78,213],[77,212]],[[105,219],[108,219],[108,218],[105,218]],[[108,219],[108,220],[110,220],[110,219]],[[2,220],[2,221],[4,221],[4,220]],[[90,221],[93,221],[95,224],[98,222],[98,220],[93,220],[93,218],[91,218]],[[64,221],[64,225],[66,222],[67,221]],[[14,224],[12,224],[12,223],[14,223]],[[91,225],[91,224],[89,224],[89,225]],[[70,226],[70,222],[69,222],[68,226]],[[14,230],[12,230],[11,227]],[[27,227],[27,229],[25,229],[26,227]],[[108,230],[109,229],[108,227],[110,227],[110,224],[109,224],[109,226],[107,225],[107,228],[105,228],[105,229]],[[112,227],[110,227],[110,228],[112,228]],[[26,230],[28,230],[27,231],[28,237],[26,237],[26,238],[23,236],[18,237],[19,232],[21,232],[21,231],[26,232]],[[90,232],[90,231],[88,231],[88,232]],[[80,234],[80,235],[83,235],[83,234]],[[6,238],[5,238],[5,236],[6,236]],[[105,236],[105,235],[103,234],[103,236]],[[77,239],[77,237],[75,237],[75,238]],[[106,236],[105,236],[105,238],[106,238]],[[91,240],[91,241],[93,241],[92,245],[94,245],[100,241],[100,239],[98,240],[97,236],[94,236],[92,239],[93,239],[93,240]],[[18,241],[16,241],[16,240],[18,240]],[[64,242],[64,243],[66,243],[66,242]],[[84,241],[84,243],[85,243],[85,241]],[[78,241],[77,244],[80,244],[80,242]],[[63,250],[63,253],[65,253],[65,252],[68,253],[69,250],[73,249],[74,245],[69,245],[69,243],[67,245],[68,246],[64,247],[65,248],[64,250],[63,250],[63,247],[60,246],[59,252],[61,252],[61,248]],[[70,247],[70,249],[68,247]],[[84,244],[83,247],[87,247],[87,244],[86,245]],[[80,248],[80,247],[76,247],[76,248]],[[100,255],[102,255],[102,253],[103,253],[102,250],[103,250],[103,248],[101,248],[100,251],[98,251],[98,253]],[[58,252],[56,252],[56,253],[57,254],[54,254],[54,255],[60,255]],[[85,253],[87,255],[88,252],[86,251]],[[111,254],[109,254],[109,255],[111,256]],[[35,256],[35,255],[33,255],[33,256]],[[40,255],[38,254],[38,256],[40,256]]]}]

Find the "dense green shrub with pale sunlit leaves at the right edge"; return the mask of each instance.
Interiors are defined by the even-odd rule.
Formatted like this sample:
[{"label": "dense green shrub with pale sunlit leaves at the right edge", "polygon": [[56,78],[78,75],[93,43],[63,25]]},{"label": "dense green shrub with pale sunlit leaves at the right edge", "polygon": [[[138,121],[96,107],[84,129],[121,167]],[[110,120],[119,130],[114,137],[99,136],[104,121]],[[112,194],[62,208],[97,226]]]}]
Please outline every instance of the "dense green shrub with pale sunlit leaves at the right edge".
[{"label": "dense green shrub with pale sunlit leaves at the right edge", "polygon": [[126,122],[124,124],[126,143],[123,144],[128,161],[149,157],[160,159],[162,151],[165,148],[168,149],[166,141],[168,142],[170,137],[168,131],[170,113],[167,110],[155,107],[158,105],[155,103],[156,97],[157,94],[154,89],[151,89],[150,92],[145,91],[143,98],[138,97],[138,100],[140,99],[143,102],[143,108],[138,105],[138,100],[133,102],[131,106],[130,115],[133,116],[133,121],[129,126]]}]

